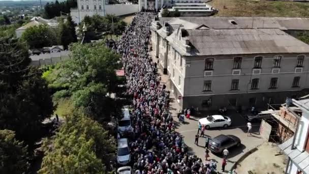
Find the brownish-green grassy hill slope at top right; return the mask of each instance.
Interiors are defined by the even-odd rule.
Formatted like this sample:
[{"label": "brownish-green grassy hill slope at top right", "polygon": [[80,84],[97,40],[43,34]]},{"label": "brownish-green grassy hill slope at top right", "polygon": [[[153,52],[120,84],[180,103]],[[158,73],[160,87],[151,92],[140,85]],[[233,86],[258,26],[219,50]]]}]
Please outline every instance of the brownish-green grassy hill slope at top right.
[{"label": "brownish-green grassy hill slope at top right", "polygon": [[217,16],[309,17],[309,3],[265,0],[213,0]]}]

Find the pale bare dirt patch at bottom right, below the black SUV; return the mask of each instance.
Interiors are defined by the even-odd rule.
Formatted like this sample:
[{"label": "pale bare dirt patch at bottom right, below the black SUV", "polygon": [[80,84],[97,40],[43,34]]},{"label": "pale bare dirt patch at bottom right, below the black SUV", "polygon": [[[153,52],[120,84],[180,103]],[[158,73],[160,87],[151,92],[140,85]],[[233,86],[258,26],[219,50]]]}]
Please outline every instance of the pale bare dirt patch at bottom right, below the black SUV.
[{"label": "pale bare dirt patch at bottom right, below the black SUV", "polygon": [[[281,155],[280,155],[281,154]],[[284,173],[287,157],[280,152],[280,149],[264,143],[258,148],[258,151],[246,157],[237,165],[238,173]]]}]

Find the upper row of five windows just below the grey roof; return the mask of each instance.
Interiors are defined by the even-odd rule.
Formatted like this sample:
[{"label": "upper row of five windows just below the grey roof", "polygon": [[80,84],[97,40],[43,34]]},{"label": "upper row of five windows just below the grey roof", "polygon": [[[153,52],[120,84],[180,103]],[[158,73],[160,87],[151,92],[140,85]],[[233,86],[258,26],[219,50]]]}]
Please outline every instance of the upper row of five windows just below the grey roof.
[{"label": "upper row of five windows just below the grey roof", "polygon": [[[305,57],[304,55],[298,55],[297,56],[296,67],[302,67],[304,57]],[[254,59],[253,68],[261,68],[262,59],[263,59],[262,56],[256,56],[255,59]],[[273,67],[280,68],[281,59],[282,59],[281,55],[274,56],[273,57]],[[213,58],[207,58],[205,60],[205,70],[212,70],[213,69],[213,61],[214,61]],[[233,69],[240,69],[241,68],[241,62],[242,62],[242,57],[234,57]]]}]

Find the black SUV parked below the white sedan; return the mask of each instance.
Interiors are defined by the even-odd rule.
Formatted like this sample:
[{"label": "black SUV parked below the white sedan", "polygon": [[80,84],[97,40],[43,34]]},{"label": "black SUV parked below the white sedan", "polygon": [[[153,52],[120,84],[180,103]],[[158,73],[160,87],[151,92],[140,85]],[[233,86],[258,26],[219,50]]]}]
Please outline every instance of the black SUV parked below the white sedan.
[{"label": "black SUV parked below the white sedan", "polygon": [[240,146],[241,141],[234,135],[219,135],[212,138],[208,143],[208,149],[214,153],[222,153],[224,149]]}]

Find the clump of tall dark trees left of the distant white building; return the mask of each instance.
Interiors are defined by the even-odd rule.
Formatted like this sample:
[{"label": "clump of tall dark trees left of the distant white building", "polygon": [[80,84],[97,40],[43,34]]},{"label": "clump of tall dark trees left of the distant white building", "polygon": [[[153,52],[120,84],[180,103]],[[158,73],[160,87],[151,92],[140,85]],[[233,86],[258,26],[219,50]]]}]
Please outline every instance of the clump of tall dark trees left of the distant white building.
[{"label": "clump of tall dark trees left of the distant white building", "polygon": [[60,16],[60,12],[70,13],[70,8],[77,7],[76,0],[67,0],[59,3],[55,1],[55,3],[47,3],[44,7],[44,17],[45,18],[53,18],[55,16]]}]

